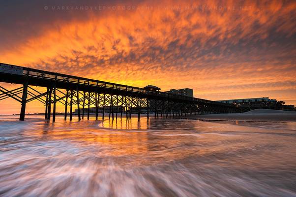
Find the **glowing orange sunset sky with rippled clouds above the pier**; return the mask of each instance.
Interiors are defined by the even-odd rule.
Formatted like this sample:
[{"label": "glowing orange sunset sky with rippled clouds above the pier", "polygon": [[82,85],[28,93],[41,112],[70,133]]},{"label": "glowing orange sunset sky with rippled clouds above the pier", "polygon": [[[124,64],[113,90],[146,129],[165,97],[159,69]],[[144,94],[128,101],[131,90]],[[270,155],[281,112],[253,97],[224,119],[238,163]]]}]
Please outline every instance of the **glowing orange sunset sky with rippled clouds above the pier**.
[{"label": "glowing orange sunset sky with rippled clouds above the pier", "polygon": [[[1,0],[0,62],[296,105],[296,1]],[[26,112],[44,111],[32,103]],[[19,111],[0,101],[0,114]]]}]

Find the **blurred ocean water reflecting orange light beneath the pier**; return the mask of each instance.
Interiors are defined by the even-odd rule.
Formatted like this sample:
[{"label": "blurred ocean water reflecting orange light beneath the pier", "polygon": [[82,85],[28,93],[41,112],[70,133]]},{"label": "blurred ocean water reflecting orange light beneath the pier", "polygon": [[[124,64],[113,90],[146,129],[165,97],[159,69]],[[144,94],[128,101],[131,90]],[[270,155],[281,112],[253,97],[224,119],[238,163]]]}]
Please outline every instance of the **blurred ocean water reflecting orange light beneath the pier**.
[{"label": "blurred ocean water reflecting orange light beneath the pier", "polygon": [[0,116],[1,197],[295,197],[296,122]]}]

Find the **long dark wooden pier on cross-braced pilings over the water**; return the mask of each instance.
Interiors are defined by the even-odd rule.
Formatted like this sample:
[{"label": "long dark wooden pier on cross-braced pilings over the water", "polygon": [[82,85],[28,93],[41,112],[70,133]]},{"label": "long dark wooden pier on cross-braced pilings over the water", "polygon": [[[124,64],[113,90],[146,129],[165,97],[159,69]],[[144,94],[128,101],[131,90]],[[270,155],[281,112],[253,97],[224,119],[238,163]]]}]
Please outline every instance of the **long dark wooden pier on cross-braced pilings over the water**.
[{"label": "long dark wooden pier on cross-braced pilings over the water", "polygon": [[[14,66],[0,63],[0,82],[22,84],[22,87],[7,90],[0,86],[0,100],[12,98],[21,103],[20,120],[25,120],[26,103],[39,100],[45,105],[45,119],[56,120],[56,103],[65,106],[64,119],[70,108],[69,119],[72,120],[73,106],[77,106],[78,120],[84,119],[87,107],[89,119],[90,105],[95,106],[95,118],[98,119],[99,107],[102,119],[108,107],[109,119],[120,118],[125,113],[126,119],[137,113],[140,119],[145,110],[147,118],[153,113],[155,118],[177,118],[188,114],[235,113],[236,108],[227,103],[198,99],[160,91],[109,83],[94,79],[77,77],[57,72]],[[46,87],[41,93],[34,86]],[[22,94],[22,97],[20,95]],[[52,111],[53,110],[53,111]],[[114,116],[116,114],[116,116]]]}]

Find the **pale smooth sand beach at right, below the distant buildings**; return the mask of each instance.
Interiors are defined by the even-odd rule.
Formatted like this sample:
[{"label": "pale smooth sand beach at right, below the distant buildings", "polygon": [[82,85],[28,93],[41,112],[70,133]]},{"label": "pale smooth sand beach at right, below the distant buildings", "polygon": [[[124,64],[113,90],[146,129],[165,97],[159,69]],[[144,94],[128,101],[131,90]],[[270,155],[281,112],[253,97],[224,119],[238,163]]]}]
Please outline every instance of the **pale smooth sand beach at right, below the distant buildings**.
[{"label": "pale smooth sand beach at right, below the distant buildings", "polygon": [[223,121],[289,121],[296,122],[296,112],[272,109],[255,109],[245,113],[235,114],[206,114],[187,116],[189,119],[223,120]]}]

